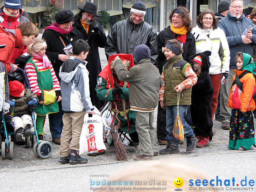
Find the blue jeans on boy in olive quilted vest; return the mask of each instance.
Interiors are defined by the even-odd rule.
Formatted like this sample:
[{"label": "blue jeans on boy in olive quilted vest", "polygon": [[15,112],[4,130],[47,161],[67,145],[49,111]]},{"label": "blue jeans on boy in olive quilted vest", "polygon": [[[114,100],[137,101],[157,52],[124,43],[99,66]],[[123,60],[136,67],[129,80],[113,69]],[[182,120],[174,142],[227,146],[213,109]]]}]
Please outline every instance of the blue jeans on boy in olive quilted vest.
[{"label": "blue jeans on boy in olive quilted vest", "polygon": [[[183,129],[184,129],[184,137],[193,137],[193,129],[189,126],[189,124],[185,121],[184,116],[187,114],[187,105],[179,105],[179,116],[181,118]],[[168,135],[166,136],[167,142],[174,146],[178,146],[179,142],[174,138],[172,134],[172,130],[174,127],[174,120],[176,119],[178,108],[177,105],[166,106],[166,130]]]}]

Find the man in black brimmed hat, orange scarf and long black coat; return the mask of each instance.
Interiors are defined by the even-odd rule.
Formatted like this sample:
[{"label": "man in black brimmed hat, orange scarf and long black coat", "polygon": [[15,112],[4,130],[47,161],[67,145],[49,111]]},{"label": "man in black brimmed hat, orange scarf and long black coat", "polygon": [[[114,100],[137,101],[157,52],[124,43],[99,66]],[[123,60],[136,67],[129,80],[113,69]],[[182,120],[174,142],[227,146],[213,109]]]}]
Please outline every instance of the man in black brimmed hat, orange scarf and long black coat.
[{"label": "man in black brimmed hat, orange scarf and long black coat", "polygon": [[82,33],[83,39],[89,44],[90,50],[86,61],[86,68],[89,71],[90,78],[90,97],[92,104],[98,109],[104,105],[104,102],[99,100],[95,87],[97,85],[97,76],[101,71],[100,56],[98,47],[104,48],[106,44],[106,34],[102,26],[94,20],[97,14],[97,5],[92,2],[86,2],[84,7],[78,6],[80,12],[75,16],[74,27]]}]

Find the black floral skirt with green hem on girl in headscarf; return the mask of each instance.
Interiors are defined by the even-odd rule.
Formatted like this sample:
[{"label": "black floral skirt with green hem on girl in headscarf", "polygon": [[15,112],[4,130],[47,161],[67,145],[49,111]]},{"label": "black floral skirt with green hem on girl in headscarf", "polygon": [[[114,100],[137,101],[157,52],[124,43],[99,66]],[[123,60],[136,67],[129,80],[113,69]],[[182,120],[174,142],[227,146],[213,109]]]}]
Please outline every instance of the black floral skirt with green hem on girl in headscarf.
[{"label": "black floral skirt with green hem on girl in headscarf", "polygon": [[240,146],[249,150],[252,145],[255,146],[252,112],[242,113],[238,109],[233,109],[230,118],[229,150],[238,150]]}]

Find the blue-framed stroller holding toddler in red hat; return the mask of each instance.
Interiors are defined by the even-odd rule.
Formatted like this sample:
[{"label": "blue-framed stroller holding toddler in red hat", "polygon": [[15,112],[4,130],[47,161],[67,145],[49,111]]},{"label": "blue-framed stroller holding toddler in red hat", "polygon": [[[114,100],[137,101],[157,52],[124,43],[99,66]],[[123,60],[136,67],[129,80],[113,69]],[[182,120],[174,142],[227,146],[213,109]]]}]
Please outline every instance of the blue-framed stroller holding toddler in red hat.
[{"label": "blue-framed stroller holding toddler in red hat", "polygon": [[[8,79],[9,79],[9,81],[14,81],[14,80],[20,81],[25,86],[26,89],[30,89],[27,75],[20,68],[17,68],[16,71],[14,71],[11,74],[8,74]],[[52,147],[52,144],[50,144],[49,142],[38,139],[36,126],[34,123],[35,108],[36,108],[36,105],[32,105],[30,108],[30,113],[29,113],[29,115],[32,117],[32,120],[33,120],[34,132],[32,132],[32,135],[30,137],[25,138],[25,145],[26,145],[26,148],[29,148],[30,142],[31,142],[34,155],[36,155],[37,157],[40,157],[42,159],[46,159],[52,154],[53,147]],[[13,114],[11,114],[11,116],[12,115]],[[2,156],[2,159],[5,159],[6,155],[9,156],[10,159],[13,159],[14,158],[14,142],[11,142],[9,144],[8,136],[14,135],[14,128],[13,129],[10,128],[11,121],[6,121],[5,116],[3,114],[2,114],[2,123],[3,124],[0,128],[0,133],[4,133],[5,138],[6,138],[6,143],[5,143],[5,141],[2,141],[2,138],[0,136],[1,156]]]}]

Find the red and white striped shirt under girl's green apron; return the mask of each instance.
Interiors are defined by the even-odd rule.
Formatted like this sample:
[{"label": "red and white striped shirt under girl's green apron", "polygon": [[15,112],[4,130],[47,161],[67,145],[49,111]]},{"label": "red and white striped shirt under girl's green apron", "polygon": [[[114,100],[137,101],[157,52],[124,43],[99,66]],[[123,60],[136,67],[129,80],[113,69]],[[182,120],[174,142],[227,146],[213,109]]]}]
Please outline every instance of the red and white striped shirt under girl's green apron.
[{"label": "red and white striped shirt under girl's green apron", "polygon": [[[49,68],[45,68],[43,66],[43,59],[32,58],[32,61],[36,64],[38,71],[44,71],[44,70],[49,69]],[[37,73],[36,73],[36,69],[34,68],[34,65],[32,63],[27,63],[25,65],[25,71],[26,71],[26,75],[27,75],[27,78],[28,78],[28,81],[29,81],[29,84],[30,84],[30,90],[36,96],[41,95],[42,91],[39,89],[39,86],[38,86]],[[51,71],[51,74],[52,74],[53,89],[55,91],[58,91],[58,90],[60,90],[60,84],[59,84],[59,81],[57,79],[57,76],[55,75],[52,64],[50,65],[50,71]]]}]

